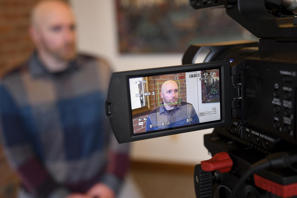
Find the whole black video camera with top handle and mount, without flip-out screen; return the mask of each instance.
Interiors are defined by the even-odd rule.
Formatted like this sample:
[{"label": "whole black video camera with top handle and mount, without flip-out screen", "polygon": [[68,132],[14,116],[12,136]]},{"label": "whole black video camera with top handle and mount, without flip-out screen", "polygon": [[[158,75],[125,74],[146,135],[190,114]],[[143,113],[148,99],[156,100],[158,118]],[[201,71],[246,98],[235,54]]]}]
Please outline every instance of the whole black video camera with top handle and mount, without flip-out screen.
[{"label": "whole black video camera with top handle and mount, without flip-out screen", "polygon": [[[197,2],[190,4],[196,9],[213,6]],[[296,6],[296,2],[287,3]],[[286,9],[291,6],[294,12],[296,7],[292,9],[292,4],[285,5],[285,1],[270,0],[221,1],[221,4],[229,16],[262,39],[257,50],[251,46],[239,46],[239,49],[236,45],[216,46],[211,50],[213,54],[206,57],[207,61],[237,58],[230,63],[231,84],[235,90],[241,88],[242,93],[235,91],[232,97],[232,124],[217,127],[212,134],[204,136],[204,145],[212,156],[220,152],[229,154],[234,162],[232,169],[227,173],[204,172],[201,165],[196,165],[197,197],[229,197],[253,163],[272,153],[296,150],[297,18]],[[183,64],[193,61],[195,51],[199,50],[200,46],[190,46]],[[297,174],[290,168],[264,169],[241,183],[236,196],[295,197],[296,182]]]}]

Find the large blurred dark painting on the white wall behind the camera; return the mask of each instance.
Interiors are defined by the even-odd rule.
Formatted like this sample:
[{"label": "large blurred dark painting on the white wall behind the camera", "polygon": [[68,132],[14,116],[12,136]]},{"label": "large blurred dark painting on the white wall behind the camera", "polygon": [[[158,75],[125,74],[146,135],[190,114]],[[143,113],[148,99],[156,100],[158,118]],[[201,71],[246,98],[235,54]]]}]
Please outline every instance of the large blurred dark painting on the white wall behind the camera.
[{"label": "large blurred dark painting on the white wall behind the camera", "polygon": [[187,0],[115,2],[121,54],[183,53],[191,44],[257,40],[224,8],[195,10]]}]

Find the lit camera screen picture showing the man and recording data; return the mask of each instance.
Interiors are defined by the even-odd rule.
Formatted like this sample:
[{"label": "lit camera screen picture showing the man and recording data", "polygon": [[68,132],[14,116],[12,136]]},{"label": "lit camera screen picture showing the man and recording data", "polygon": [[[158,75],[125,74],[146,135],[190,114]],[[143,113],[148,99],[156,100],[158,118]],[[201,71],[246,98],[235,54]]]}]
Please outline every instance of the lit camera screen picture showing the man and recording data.
[{"label": "lit camera screen picture showing the man and recording data", "polygon": [[129,78],[133,134],[221,119],[219,69]]}]

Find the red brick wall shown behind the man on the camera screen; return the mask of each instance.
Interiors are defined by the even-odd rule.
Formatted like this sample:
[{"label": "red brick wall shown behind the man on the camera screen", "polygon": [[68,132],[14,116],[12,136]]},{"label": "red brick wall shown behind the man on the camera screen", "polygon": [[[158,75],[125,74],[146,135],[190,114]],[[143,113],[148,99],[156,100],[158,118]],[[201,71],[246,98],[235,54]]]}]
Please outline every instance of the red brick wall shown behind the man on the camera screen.
[{"label": "red brick wall shown behind the man on the camera screen", "polygon": [[[174,80],[175,76],[184,76],[185,73],[179,73],[179,74],[174,74],[174,75],[160,75],[160,76],[154,76],[154,77],[149,77],[148,82],[149,82],[149,91],[153,92],[155,91],[156,95],[150,95],[150,103],[151,103],[151,110],[156,109],[161,105],[161,102],[163,99],[160,96],[161,92],[161,86],[162,83],[165,82],[166,80]],[[179,79],[179,82],[176,82],[179,85],[179,92],[180,92],[180,101],[187,102],[187,95],[186,95],[186,79]],[[159,100],[158,100],[159,97]],[[133,129],[134,133],[141,133],[145,131],[145,125],[146,121],[142,120],[143,125],[138,125],[139,121],[137,120],[138,118],[144,118],[147,117],[148,113],[145,114],[140,114],[137,116],[133,116]]]}]

